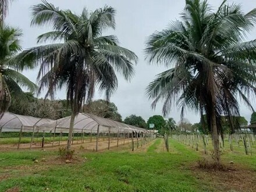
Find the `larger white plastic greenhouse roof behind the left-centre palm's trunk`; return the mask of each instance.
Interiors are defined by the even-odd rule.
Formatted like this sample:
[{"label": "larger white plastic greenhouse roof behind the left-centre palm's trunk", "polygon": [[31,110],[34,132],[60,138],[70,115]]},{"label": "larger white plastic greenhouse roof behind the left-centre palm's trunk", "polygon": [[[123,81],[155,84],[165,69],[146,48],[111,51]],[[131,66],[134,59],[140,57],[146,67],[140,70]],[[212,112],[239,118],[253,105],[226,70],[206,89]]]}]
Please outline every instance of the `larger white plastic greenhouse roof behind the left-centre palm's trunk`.
[{"label": "larger white plastic greenhouse roof behind the left-centre palm's trunk", "polygon": [[[52,131],[55,133],[68,133],[70,126],[70,118],[52,120],[51,122],[45,123],[44,125],[37,126],[38,131]],[[76,133],[97,133],[99,126],[99,132],[108,132],[109,129],[111,133],[126,132],[131,133],[132,131],[137,132],[147,132],[147,130],[126,125],[125,123],[116,122],[115,120],[99,118],[96,115],[91,115],[88,113],[79,113],[74,119],[74,132]]]}]

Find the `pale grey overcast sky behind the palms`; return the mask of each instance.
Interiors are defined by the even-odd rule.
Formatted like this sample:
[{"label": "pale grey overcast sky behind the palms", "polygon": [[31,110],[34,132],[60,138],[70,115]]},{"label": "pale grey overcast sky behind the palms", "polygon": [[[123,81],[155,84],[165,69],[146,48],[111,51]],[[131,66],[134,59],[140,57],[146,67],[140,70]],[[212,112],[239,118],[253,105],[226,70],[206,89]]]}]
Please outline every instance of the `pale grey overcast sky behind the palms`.
[{"label": "pale grey overcast sky behind the palms", "polygon": [[[6,23],[13,27],[20,27],[23,30],[22,46],[24,49],[37,45],[36,38],[38,35],[47,32],[49,29],[30,27],[31,6],[37,5],[39,0],[18,0],[10,5],[9,15]],[[138,58],[138,64],[135,67],[136,76],[130,83],[127,83],[119,77],[119,87],[112,96],[111,101],[118,106],[119,112],[123,119],[131,114],[142,116],[147,120],[152,115],[162,115],[162,104],[158,104],[153,111],[150,107],[151,101],[145,95],[145,87],[152,81],[156,74],[163,72],[164,67],[147,65],[144,61],[143,49],[145,48],[145,40],[154,33],[155,30],[164,29],[171,20],[179,19],[179,13],[182,12],[185,0],[49,0],[61,9],[70,9],[79,14],[86,7],[88,10],[102,8],[104,5],[112,6],[117,10],[116,30],[111,31],[112,34],[118,36],[122,47],[134,51]],[[218,7],[222,0],[209,0],[214,7]],[[255,0],[236,0],[243,6],[244,12],[256,8]],[[248,35],[248,39],[256,38],[256,30]],[[30,80],[35,82],[37,69],[23,72]],[[103,96],[102,96],[103,97]],[[66,90],[61,90],[56,95],[56,99],[65,99]],[[101,98],[95,94],[94,99]],[[255,106],[255,102],[253,102]],[[241,105],[241,116],[245,116],[250,121],[251,111]],[[169,117],[178,122],[180,120],[179,109],[172,107]],[[199,121],[199,116],[194,111],[187,111],[185,118],[191,123]]]}]

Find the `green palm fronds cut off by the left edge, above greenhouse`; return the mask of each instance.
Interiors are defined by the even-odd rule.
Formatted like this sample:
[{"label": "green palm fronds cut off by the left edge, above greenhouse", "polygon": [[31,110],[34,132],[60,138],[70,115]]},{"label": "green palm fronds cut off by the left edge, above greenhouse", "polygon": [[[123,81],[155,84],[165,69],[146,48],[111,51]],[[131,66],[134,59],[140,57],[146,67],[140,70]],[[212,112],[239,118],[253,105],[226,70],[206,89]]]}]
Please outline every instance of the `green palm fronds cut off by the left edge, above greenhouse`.
[{"label": "green palm fronds cut off by the left edge, above greenhouse", "polygon": [[32,92],[37,89],[34,83],[19,73],[20,70],[29,67],[15,59],[17,52],[22,49],[19,41],[21,36],[20,29],[0,26],[0,118],[8,109],[11,97],[26,99],[22,87]]}]

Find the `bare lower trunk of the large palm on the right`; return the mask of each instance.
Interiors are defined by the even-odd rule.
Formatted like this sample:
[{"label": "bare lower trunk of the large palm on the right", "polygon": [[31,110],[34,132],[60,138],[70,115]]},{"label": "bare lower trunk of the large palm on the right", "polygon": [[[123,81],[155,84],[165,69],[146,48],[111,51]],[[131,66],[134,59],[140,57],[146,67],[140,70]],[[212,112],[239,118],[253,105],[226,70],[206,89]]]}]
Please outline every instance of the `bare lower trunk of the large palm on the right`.
[{"label": "bare lower trunk of the large palm on the right", "polygon": [[214,111],[215,110],[212,110],[212,114],[211,114],[212,142],[214,143],[215,162],[219,164],[221,161],[221,154],[219,152],[219,135],[218,135],[217,125],[216,125],[216,115]]}]

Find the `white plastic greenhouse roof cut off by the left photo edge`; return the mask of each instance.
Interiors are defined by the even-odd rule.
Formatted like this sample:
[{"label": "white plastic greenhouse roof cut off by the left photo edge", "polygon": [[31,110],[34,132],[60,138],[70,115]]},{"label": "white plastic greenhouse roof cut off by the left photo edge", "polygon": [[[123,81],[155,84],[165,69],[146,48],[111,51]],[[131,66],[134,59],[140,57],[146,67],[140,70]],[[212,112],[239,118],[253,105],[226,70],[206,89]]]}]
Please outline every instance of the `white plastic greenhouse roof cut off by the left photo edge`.
[{"label": "white plastic greenhouse roof cut off by the left photo edge", "polygon": [[22,128],[23,132],[32,132],[34,126],[40,126],[51,121],[52,119],[34,118],[5,112],[2,119],[0,119],[0,130],[2,132],[10,132],[20,131]]}]

